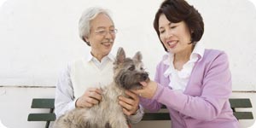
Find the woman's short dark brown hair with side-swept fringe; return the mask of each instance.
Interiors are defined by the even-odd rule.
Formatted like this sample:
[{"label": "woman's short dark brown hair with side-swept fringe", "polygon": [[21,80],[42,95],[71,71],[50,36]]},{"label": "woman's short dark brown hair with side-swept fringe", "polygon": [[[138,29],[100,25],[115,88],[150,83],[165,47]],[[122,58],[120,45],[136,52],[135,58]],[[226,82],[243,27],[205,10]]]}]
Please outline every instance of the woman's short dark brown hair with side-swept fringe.
[{"label": "woman's short dark brown hair with side-swept fringe", "polygon": [[[197,9],[189,5],[185,0],[165,0],[161,3],[160,9],[158,9],[154,17],[154,30],[157,32],[159,38],[159,18],[162,14],[166,15],[167,20],[170,20],[172,23],[185,22],[189,27],[191,44],[196,44],[196,42],[200,41],[204,33],[203,19]],[[161,42],[161,44],[163,43]],[[163,46],[167,51],[164,44]]]}]

